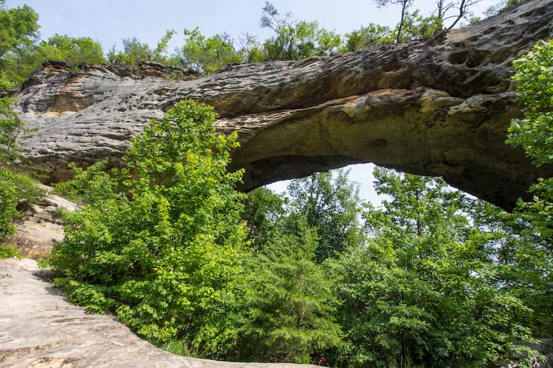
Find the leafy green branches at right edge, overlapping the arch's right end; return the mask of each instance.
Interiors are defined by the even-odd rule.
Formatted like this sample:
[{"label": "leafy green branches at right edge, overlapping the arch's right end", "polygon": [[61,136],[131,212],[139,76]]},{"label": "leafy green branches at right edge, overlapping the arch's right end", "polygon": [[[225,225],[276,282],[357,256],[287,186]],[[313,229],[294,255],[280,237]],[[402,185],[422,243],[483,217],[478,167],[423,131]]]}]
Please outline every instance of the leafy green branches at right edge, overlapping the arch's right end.
[{"label": "leafy green branches at right edge, overlapping the arch's right end", "polygon": [[[523,104],[523,119],[513,119],[509,126],[507,143],[524,149],[535,166],[553,163],[553,40],[538,41],[532,51],[513,63],[516,74],[516,91]],[[529,222],[534,229],[523,233],[527,246],[518,251],[518,275],[525,274],[521,291],[532,299],[541,310],[550,313],[553,301],[550,296],[553,280],[549,272],[553,259],[553,179],[538,178],[529,188],[532,200],[519,200],[515,209],[521,220]],[[536,309],[538,309],[536,307]],[[551,336],[550,318],[538,318],[535,327]]]}]

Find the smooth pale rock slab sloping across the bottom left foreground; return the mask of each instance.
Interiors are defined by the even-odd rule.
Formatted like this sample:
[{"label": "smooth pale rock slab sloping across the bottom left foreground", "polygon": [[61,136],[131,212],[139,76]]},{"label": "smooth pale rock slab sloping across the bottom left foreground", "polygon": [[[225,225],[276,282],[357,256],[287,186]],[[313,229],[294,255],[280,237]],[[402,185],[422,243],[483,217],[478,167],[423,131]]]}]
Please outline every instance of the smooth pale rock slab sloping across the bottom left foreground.
[{"label": "smooth pale rock slab sloping across the bottom left foreground", "polygon": [[0,367],[315,367],[185,358],[86,314],[39,278],[35,260],[0,260]]}]

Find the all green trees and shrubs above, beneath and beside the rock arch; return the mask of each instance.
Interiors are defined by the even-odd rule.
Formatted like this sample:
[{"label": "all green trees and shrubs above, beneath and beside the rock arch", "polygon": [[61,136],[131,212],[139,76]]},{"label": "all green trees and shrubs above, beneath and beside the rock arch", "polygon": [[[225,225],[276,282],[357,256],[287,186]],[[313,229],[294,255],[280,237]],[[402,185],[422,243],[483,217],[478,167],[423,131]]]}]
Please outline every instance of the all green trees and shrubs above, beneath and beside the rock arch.
[{"label": "all green trees and shrubs above, beneath and beside the rock arch", "polygon": [[[518,1],[506,1],[505,6]],[[438,1],[424,17],[399,3],[394,29],[369,24],[341,37],[271,3],[263,43],[185,30],[168,52],[135,37],[109,61],[162,62],[214,72],[233,62],[304,59],[429,37],[467,19],[476,1]],[[449,15],[451,12],[454,15]],[[458,14],[457,14],[458,13]],[[38,39],[38,16],[0,0],[0,89],[46,59],[104,62],[89,37]],[[514,62],[524,117],[507,143],[536,166],[553,163],[553,41]],[[0,241],[14,231],[18,139],[30,133],[0,98]],[[140,336],[178,354],[333,367],[530,367],[529,343],[553,338],[553,182],[505,213],[439,178],[375,169],[382,204],[359,199],[347,171],[292,180],[288,196],[236,191],[227,171],[236,133],[218,135],[213,108],[179,101],[133,138],[124,167],[71,166],[56,190],[81,204],[64,215],[65,238],[43,261],[88,311],[111,311]],[[0,255],[4,254],[0,249]]]}]

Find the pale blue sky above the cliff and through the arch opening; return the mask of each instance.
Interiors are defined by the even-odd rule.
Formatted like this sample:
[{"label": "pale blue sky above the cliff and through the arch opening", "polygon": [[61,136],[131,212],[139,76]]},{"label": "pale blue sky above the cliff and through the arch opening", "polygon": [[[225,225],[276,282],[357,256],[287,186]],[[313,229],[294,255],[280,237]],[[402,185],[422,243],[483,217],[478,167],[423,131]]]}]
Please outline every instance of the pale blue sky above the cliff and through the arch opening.
[{"label": "pale blue sky above the cliff and through the arch opening", "polygon": [[[280,14],[292,13],[292,19],[318,21],[321,27],[344,35],[368,23],[394,27],[399,21],[400,8],[389,5],[379,9],[371,0],[272,0]],[[482,0],[474,6],[481,15],[496,0]],[[177,34],[170,47],[182,45],[185,28],[200,28],[207,36],[227,32],[233,39],[244,32],[259,39],[271,36],[270,30],[260,28],[265,0],[6,0],[8,8],[27,4],[39,14],[40,33],[48,39],[56,33],[71,37],[92,37],[100,41],[104,51],[122,48],[122,39],[137,37],[155,46],[167,30]],[[410,10],[420,9],[429,15],[435,0],[414,0]],[[379,202],[373,190],[373,165],[351,167],[350,178],[362,184],[364,200]],[[271,188],[283,191],[286,184]]]}]

